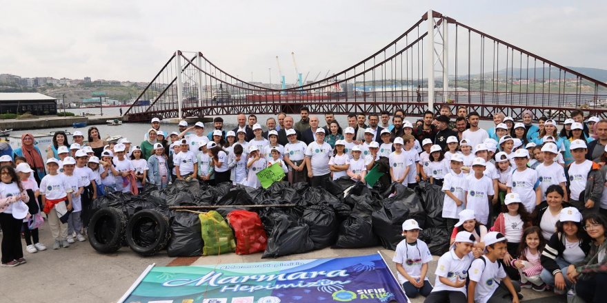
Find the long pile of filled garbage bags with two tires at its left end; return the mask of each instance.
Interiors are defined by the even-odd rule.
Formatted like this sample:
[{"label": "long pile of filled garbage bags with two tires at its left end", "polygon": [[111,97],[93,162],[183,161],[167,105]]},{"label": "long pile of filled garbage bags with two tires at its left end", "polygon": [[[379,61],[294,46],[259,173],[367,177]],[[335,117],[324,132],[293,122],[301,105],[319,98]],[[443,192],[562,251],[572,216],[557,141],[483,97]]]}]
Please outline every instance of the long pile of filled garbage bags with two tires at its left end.
[{"label": "long pile of filled garbage bags with two tires at its left end", "polygon": [[[326,247],[356,249],[378,244],[394,250],[404,239],[401,224],[413,218],[424,228],[421,240],[432,254],[440,255],[449,241],[441,218],[443,195],[440,187],[424,182],[415,190],[397,183],[369,188],[348,177],[322,187],[277,182],[268,189],[230,183],[208,187],[197,180],[177,180],[165,189],[146,187],[137,196],[110,192],[94,200],[95,213],[114,209],[99,213],[105,218],[95,221],[99,230],[116,227],[111,229],[114,238],[108,240],[108,232],[100,232],[91,244],[102,253],[119,249],[117,242],[141,255],[166,248],[170,257],[261,252],[262,258],[277,258]],[[169,208],[188,206],[214,208],[193,212]],[[130,224],[140,211],[146,216]],[[121,224],[127,228],[119,228]],[[157,240],[165,231],[166,239]],[[105,242],[112,247],[103,247]]]}]

